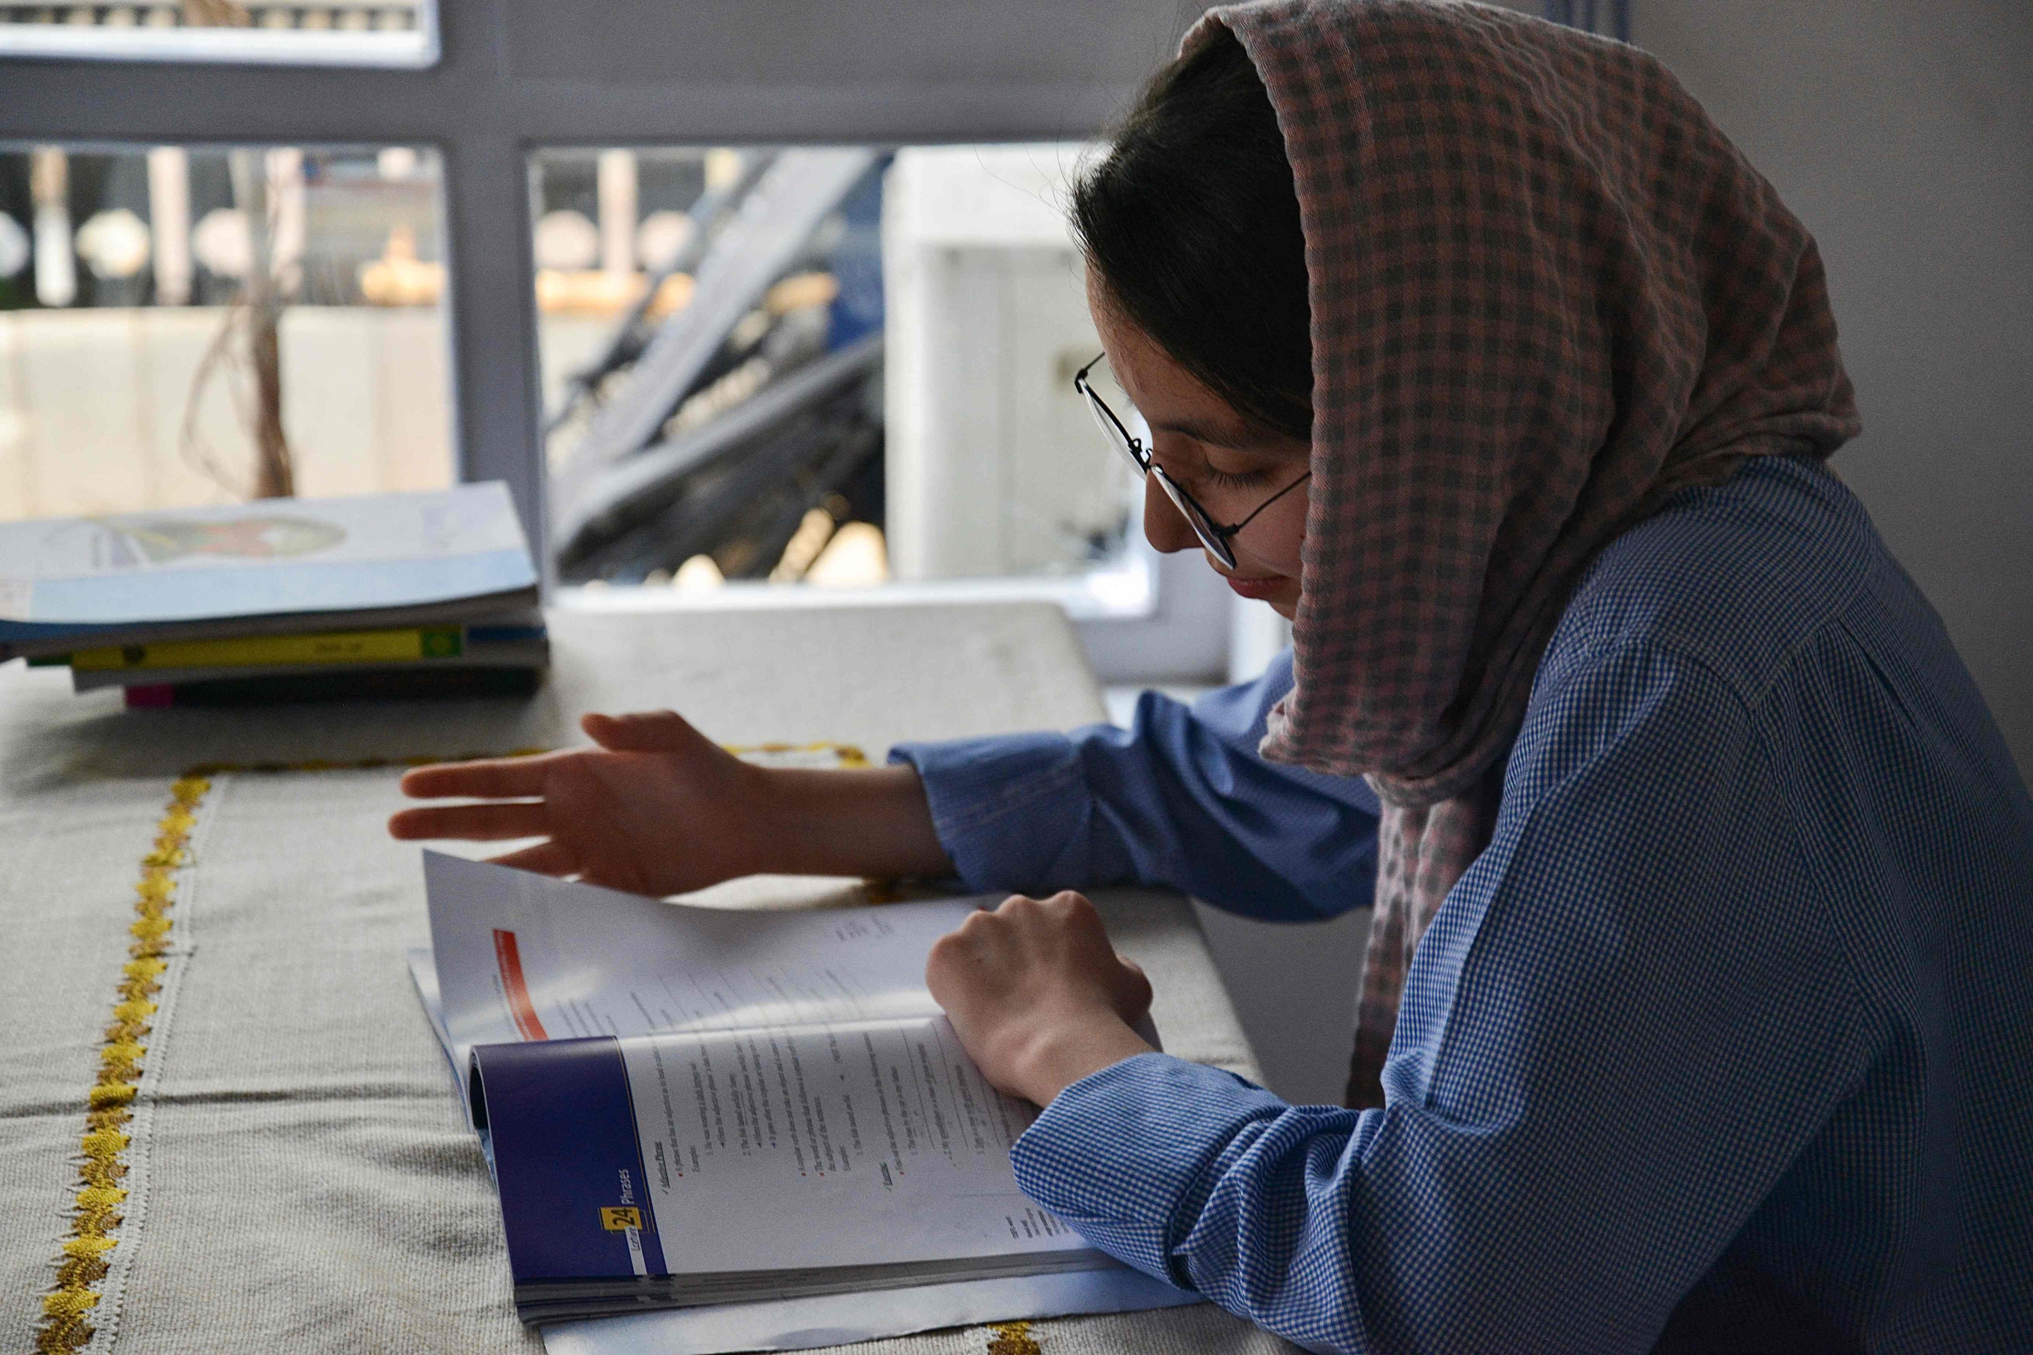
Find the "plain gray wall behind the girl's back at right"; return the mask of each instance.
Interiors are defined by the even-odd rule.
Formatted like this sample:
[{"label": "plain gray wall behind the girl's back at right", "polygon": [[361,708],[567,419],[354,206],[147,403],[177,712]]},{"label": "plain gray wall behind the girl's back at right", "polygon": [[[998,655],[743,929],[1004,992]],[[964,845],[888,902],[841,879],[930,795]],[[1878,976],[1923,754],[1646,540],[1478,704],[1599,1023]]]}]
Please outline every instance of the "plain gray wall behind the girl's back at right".
[{"label": "plain gray wall behind the girl's back at right", "polygon": [[1637,0],[1632,37],[1820,238],[1834,465],[2033,778],[2033,4]]}]

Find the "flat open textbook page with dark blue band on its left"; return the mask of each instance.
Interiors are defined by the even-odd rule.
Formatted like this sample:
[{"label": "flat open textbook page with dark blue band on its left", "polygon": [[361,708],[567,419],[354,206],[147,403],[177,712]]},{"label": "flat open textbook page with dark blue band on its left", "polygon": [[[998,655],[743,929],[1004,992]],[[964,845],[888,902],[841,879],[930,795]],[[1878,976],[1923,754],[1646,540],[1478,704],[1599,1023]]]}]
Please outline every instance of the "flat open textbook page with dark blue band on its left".
[{"label": "flat open textbook page with dark blue band on its left", "polygon": [[797,1272],[1108,1264],[1016,1188],[1037,1111],[943,1016],[482,1044],[474,1069],[525,1320],[630,1274],[710,1302],[815,1282]]}]

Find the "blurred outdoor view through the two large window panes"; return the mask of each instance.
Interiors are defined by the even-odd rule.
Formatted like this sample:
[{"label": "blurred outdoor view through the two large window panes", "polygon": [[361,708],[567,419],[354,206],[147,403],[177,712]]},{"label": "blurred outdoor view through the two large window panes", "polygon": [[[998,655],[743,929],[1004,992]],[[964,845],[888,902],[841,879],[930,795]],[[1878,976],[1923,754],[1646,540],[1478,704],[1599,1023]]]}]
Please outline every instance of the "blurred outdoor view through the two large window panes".
[{"label": "blurred outdoor view through the two large window panes", "polygon": [[[533,152],[559,583],[1120,573],[1086,154]],[[0,152],[0,512],[449,483],[441,187],[419,146]]]}]

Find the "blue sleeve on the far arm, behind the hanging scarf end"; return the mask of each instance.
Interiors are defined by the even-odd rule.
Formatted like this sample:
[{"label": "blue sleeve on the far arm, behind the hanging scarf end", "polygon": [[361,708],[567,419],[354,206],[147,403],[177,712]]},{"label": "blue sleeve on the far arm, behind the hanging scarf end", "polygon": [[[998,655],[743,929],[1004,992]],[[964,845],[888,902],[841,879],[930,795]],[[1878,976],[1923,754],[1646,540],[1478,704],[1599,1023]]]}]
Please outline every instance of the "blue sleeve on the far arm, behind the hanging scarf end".
[{"label": "blue sleeve on the far arm, behind the hanging scarf end", "polygon": [[972,890],[1110,884],[1183,890],[1267,920],[1368,906],[1376,796],[1360,778],[1265,762],[1265,715],[1291,654],[1191,707],[1145,693],[1128,729],[901,744],[939,843]]}]

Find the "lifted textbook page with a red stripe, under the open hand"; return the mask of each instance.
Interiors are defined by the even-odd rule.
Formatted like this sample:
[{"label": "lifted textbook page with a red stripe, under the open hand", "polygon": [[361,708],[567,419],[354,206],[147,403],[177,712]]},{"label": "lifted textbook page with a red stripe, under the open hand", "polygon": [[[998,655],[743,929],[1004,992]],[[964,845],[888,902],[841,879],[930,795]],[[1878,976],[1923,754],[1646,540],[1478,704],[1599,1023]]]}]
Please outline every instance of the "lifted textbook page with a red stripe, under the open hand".
[{"label": "lifted textbook page with a red stripe, under the open hand", "polygon": [[455,1069],[474,1044],[939,1016],[931,943],[1000,902],[728,912],[439,851],[423,876]]}]

